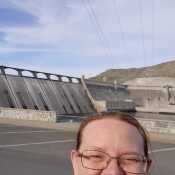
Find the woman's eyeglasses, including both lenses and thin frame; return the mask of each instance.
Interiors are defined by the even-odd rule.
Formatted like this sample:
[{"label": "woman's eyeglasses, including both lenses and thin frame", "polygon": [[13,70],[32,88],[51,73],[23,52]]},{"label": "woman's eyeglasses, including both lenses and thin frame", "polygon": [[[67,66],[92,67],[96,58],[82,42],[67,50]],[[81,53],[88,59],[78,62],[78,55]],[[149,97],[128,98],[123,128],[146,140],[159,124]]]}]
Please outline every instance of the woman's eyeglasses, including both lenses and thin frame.
[{"label": "woman's eyeglasses, including both lenses and thin frame", "polygon": [[84,168],[103,170],[107,168],[112,159],[115,159],[123,171],[132,174],[145,174],[150,162],[149,159],[140,154],[122,154],[119,157],[112,157],[98,150],[84,150],[78,156],[80,156]]}]

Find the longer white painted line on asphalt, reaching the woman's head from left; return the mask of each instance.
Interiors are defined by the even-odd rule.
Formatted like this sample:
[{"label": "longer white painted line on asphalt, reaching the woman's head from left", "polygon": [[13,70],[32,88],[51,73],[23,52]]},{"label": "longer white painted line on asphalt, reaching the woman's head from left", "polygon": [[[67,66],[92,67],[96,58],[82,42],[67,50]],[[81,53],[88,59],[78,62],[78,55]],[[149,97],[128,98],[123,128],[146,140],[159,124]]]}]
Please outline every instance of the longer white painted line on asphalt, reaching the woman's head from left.
[{"label": "longer white painted line on asphalt, reaching the woman's head from left", "polygon": [[67,139],[67,140],[54,140],[54,141],[47,141],[47,142],[32,142],[32,143],[21,143],[21,144],[12,144],[12,145],[0,145],[0,148],[30,146],[30,145],[46,145],[46,144],[54,144],[54,143],[68,143],[68,142],[75,142],[75,140]]}]

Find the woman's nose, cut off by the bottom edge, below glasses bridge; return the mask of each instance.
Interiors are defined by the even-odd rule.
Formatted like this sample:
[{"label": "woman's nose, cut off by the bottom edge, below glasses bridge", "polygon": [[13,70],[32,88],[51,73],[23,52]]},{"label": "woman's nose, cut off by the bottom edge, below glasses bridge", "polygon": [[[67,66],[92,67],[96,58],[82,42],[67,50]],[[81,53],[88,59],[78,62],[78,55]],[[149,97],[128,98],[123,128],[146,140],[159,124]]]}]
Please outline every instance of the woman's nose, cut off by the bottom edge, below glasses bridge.
[{"label": "woman's nose, cut off by the bottom edge, below glasses bridge", "polygon": [[103,170],[102,175],[126,175],[120,167],[118,160],[111,159],[108,166]]}]

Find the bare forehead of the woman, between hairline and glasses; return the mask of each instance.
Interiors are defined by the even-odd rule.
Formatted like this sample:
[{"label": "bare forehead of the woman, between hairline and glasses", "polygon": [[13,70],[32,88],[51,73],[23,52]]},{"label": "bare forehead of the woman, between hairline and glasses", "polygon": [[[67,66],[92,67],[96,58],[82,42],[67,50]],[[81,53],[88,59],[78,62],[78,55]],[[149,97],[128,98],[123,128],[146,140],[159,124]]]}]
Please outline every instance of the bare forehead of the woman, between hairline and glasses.
[{"label": "bare forehead of the woman, between hairline and glasses", "polygon": [[82,147],[102,149],[143,150],[143,139],[135,126],[116,119],[89,123],[82,133]]}]

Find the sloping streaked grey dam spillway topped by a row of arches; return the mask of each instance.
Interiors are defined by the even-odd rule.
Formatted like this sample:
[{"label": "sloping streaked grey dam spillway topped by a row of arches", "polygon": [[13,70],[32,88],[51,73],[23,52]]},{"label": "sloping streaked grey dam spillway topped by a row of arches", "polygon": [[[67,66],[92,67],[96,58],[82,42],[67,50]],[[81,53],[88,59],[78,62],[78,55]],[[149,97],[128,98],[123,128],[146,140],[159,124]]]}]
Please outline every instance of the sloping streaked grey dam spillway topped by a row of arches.
[{"label": "sloping streaked grey dam spillway topped by a row of arches", "polygon": [[[6,69],[9,67],[1,67],[1,107],[55,111],[57,115],[94,112],[79,78],[35,71],[28,71],[32,74],[29,77],[23,75],[22,69],[14,69],[18,74],[10,75],[5,73]],[[51,76],[58,79],[51,79]]]}]

